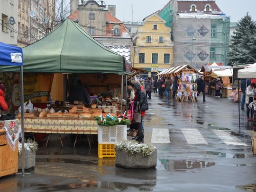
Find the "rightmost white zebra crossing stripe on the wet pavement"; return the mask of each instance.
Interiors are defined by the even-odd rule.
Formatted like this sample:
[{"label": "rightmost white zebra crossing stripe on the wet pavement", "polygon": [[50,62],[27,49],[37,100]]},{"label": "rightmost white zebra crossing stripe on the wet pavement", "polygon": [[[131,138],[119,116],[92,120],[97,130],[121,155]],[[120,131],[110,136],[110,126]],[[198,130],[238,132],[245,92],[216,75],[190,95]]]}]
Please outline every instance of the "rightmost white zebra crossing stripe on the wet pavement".
[{"label": "rightmost white zebra crossing stripe on the wet pavement", "polygon": [[221,130],[211,130],[211,131],[215,133],[227,145],[247,146],[247,144],[239,140],[236,136],[230,135],[229,132],[227,131],[221,131]]}]

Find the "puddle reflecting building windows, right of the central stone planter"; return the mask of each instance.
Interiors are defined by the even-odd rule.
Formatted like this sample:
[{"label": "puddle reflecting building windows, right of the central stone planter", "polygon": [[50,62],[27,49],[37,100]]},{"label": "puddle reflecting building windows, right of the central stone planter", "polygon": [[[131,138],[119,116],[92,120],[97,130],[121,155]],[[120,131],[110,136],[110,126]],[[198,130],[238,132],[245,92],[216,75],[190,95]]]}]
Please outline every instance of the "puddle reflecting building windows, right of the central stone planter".
[{"label": "puddle reflecting building windows, right of the central stone planter", "polygon": [[215,166],[215,162],[159,159],[167,171],[185,172],[187,169]]}]

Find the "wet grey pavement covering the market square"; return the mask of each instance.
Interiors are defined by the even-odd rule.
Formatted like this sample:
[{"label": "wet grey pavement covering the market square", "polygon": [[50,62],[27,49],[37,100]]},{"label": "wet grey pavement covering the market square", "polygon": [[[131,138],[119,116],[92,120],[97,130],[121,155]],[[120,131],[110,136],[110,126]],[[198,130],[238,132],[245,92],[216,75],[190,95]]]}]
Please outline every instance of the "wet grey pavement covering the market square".
[{"label": "wet grey pavement covering the market square", "polygon": [[[144,119],[145,142],[166,129],[170,141],[153,143],[157,148],[155,169],[115,167],[114,158],[98,159],[96,142],[90,149],[81,137],[73,148],[70,135],[63,135],[62,148],[53,136],[47,147],[46,139],[39,142],[35,169],[27,170],[24,177],[0,178],[0,192],[241,192],[254,186],[252,123],[244,121],[241,111],[239,129],[238,104],[232,100],[206,100],[202,102],[200,97],[198,102],[181,103],[152,94]],[[188,130],[199,133],[198,139],[188,138]],[[227,134],[235,142],[227,140]]]}]

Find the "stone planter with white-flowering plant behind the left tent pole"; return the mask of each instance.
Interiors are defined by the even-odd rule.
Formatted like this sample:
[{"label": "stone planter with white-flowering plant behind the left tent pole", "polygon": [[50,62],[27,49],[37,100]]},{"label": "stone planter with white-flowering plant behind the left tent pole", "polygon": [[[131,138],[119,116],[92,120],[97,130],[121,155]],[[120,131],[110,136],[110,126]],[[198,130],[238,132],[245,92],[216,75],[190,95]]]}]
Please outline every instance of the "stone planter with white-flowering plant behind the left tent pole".
[{"label": "stone planter with white-flowering plant behind the left tent pole", "polygon": [[[38,150],[38,144],[31,139],[25,140],[24,143],[24,167],[25,169],[29,169],[35,167],[36,165],[36,151]],[[18,143],[18,169],[22,168],[21,165],[21,152],[22,152],[22,144]]]}]

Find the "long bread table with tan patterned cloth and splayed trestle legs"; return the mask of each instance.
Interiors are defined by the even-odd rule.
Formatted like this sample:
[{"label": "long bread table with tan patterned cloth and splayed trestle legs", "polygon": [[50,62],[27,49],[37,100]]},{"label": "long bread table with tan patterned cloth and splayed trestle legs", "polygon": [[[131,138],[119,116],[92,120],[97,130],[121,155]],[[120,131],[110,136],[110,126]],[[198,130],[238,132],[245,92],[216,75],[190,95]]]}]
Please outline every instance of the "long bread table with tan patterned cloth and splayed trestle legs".
[{"label": "long bread table with tan patterned cloth and splayed trestle legs", "polygon": [[[20,118],[19,123],[21,123]],[[91,148],[91,141],[88,135],[98,134],[98,124],[93,118],[29,117],[25,118],[25,133],[49,134],[46,147],[50,134],[59,134],[62,147],[61,134],[76,134],[73,147],[75,147],[78,135],[86,134]]]}]

